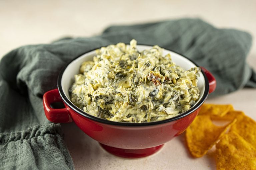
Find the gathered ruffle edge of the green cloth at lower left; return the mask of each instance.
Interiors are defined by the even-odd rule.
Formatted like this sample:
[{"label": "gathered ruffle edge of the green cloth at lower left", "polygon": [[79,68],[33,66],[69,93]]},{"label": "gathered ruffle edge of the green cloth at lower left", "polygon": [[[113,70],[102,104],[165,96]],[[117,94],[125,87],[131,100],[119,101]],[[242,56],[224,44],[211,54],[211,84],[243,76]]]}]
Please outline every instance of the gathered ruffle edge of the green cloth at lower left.
[{"label": "gathered ruffle edge of the green cloth at lower left", "polygon": [[0,139],[0,169],[73,169],[60,125],[37,125]]}]

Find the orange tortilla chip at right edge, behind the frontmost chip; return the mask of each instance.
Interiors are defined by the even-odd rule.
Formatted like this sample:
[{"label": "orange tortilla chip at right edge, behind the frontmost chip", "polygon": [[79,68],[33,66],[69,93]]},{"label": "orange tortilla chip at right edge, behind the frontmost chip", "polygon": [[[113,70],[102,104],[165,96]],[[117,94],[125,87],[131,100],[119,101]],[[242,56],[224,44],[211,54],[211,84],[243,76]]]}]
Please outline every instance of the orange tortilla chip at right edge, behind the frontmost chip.
[{"label": "orange tortilla chip at right edge, behind the frontmost chip", "polygon": [[256,122],[244,114],[237,115],[236,119],[237,122],[230,128],[230,131],[236,131],[256,148]]}]

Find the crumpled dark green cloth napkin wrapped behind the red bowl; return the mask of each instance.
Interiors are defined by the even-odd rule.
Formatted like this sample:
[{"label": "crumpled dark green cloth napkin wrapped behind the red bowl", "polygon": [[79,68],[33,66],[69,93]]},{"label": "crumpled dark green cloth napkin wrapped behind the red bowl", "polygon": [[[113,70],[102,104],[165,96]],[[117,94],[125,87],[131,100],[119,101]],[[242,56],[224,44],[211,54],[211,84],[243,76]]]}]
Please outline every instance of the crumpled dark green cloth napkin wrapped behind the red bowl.
[{"label": "crumpled dark green cloth napkin wrapped behind the red bowl", "polygon": [[217,80],[212,96],[256,87],[256,74],[246,63],[251,36],[199,19],[113,26],[96,37],[22,46],[0,62],[0,169],[74,169],[60,125],[44,115],[42,96],[57,87],[60,69],[73,58],[131,39],[177,51],[207,68]]}]

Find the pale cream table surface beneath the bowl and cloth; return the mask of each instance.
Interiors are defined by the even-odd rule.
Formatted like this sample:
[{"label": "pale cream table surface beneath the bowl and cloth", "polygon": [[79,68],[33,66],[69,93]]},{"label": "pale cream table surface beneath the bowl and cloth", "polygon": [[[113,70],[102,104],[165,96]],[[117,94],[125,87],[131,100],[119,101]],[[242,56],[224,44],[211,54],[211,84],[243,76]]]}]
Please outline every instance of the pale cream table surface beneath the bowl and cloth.
[{"label": "pale cream table surface beneath the bowl and cloth", "polygon": [[[158,0],[158,1],[14,1],[0,0],[0,58],[26,44],[49,43],[63,36],[84,37],[100,34],[110,24],[132,24],[182,17],[200,17],[216,27],[236,28],[256,36],[255,0]],[[248,55],[256,69],[256,42]],[[256,120],[256,89],[207,99],[207,103],[233,104],[236,110]],[[184,134],[166,143],[155,155],[123,159],[104,151],[74,123],[63,124],[64,140],[75,169],[165,170],[215,169],[211,154],[192,158]]]}]

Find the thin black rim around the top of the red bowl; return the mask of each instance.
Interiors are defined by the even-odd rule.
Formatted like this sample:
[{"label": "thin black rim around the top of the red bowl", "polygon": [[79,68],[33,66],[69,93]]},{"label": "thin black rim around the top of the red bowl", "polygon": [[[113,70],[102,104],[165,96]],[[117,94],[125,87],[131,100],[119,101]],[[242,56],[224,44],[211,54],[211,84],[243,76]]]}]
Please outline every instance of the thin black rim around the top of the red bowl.
[{"label": "thin black rim around the top of the red bowl", "polygon": [[[144,45],[144,46],[151,46],[152,45],[148,45],[148,44],[138,44],[138,45]],[[100,48],[100,47],[98,47]],[[92,50],[89,50],[87,52],[84,52],[80,55],[78,55],[77,57],[75,57],[74,59],[72,59],[69,63],[67,63],[60,71],[59,73],[59,76],[58,76],[58,80],[57,80],[57,87],[58,87],[58,91],[59,91],[59,94],[62,98],[62,100],[65,102],[65,104],[67,106],[69,106],[73,111],[75,111],[76,113],[78,113],[79,115],[85,117],[85,118],[88,118],[92,121],[96,121],[98,123],[103,123],[103,124],[108,124],[108,125],[115,125],[115,126],[128,126],[128,127],[138,127],[138,126],[152,126],[152,125],[159,125],[159,124],[164,124],[164,123],[168,123],[168,122],[172,122],[172,121],[176,121],[176,120],[179,120],[181,118],[184,118],[188,115],[190,115],[191,113],[195,112],[197,109],[200,108],[200,106],[204,103],[204,101],[206,100],[208,94],[209,94],[209,82],[208,82],[208,78],[206,76],[206,74],[201,70],[203,76],[204,76],[204,79],[205,79],[205,91],[204,91],[204,94],[201,98],[201,100],[199,102],[197,102],[196,105],[194,105],[191,109],[183,112],[182,114],[180,115],[177,115],[173,118],[169,118],[169,119],[165,119],[165,120],[162,120],[162,121],[155,121],[155,122],[147,122],[147,123],[127,123],[127,122],[114,122],[114,121],[109,121],[109,120],[106,120],[106,119],[102,119],[102,118],[98,118],[98,117],[95,117],[95,116],[92,116],[84,111],[82,111],[81,109],[79,109],[77,106],[75,106],[68,98],[67,96],[64,94],[64,91],[61,87],[61,79],[62,79],[62,75],[65,71],[65,69],[67,68],[67,66],[72,62],[74,61],[75,59],[81,57],[82,55],[86,54],[86,53],[89,53],[91,51],[94,51],[98,48],[94,48]],[[187,58],[186,56],[184,56],[183,54],[180,54],[174,50],[170,50],[170,49],[167,49],[167,48],[164,48],[166,50],[169,50],[169,51],[172,51],[172,52],[175,52],[183,57],[185,57],[186,59],[188,59],[189,61],[191,61],[193,64],[195,64],[197,67],[199,67],[195,62],[193,62],[192,60],[190,60],[189,58]]]}]

